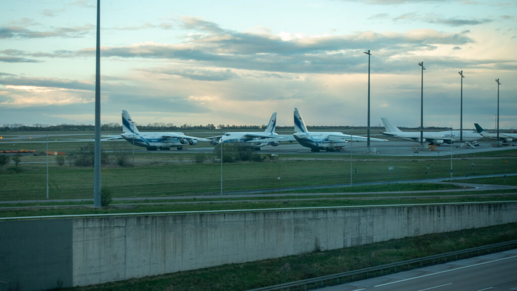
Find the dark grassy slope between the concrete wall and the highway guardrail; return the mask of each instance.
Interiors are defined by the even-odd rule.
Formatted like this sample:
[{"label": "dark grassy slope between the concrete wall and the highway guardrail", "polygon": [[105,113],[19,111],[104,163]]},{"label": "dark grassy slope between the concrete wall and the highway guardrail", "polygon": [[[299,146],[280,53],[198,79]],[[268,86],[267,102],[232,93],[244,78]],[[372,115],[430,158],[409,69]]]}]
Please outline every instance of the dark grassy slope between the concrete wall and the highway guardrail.
[{"label": "dark grassy slope between the concrete wall and the highway guardrail", "polygon": [[517,223],[510,223],[64,290],[241,291],[514,239]]}]

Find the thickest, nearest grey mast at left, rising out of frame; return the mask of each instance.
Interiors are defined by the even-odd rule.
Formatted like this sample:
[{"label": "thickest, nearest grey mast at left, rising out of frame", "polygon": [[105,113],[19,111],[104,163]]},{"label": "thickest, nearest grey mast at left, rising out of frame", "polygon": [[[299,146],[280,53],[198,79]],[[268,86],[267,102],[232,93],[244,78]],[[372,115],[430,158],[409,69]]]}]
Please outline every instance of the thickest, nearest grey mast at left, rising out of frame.
[{"label": "thickest, nearest grey mast at left, rising out of frame", "polygon": [[100,207],[100,0],[97,0],[97,50],[95,65],[94,207]]}]

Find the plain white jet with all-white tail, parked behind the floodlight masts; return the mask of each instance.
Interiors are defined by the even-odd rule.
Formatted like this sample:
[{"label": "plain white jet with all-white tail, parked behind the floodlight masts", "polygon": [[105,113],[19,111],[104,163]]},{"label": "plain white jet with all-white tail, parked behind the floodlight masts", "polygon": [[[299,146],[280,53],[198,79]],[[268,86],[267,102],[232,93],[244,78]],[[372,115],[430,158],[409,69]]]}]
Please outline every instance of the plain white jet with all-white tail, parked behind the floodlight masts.
[{"label": "plain white jet with all-white tail, parked behind the floodlight masts", "polygon": [[[388,119],[381,118],[383,120],[384,128],[386,131],[384,135],[398,137],[402,140],[408,140],[412,142],[420,142],[420,131],[405,132],[400,130]],[[434,145],[451,144],[454,142],[460,142],[460,131],[459,130],[447,130],[437,132],[423,132],[423,143],[429,143]],[[473,142],[476,144],[477,140],[482,139],[483,136],[477,134],[472,130],[463,130],[463,142]]]}]

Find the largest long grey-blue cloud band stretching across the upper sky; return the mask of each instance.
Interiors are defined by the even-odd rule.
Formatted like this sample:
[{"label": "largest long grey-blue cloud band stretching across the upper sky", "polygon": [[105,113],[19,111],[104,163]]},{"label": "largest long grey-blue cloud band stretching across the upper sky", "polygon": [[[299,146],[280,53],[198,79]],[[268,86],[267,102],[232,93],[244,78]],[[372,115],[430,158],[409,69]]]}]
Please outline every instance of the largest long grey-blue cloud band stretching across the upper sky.
[{"label": "largest long grey-blue cloud band stretching across the upper sky", "polygon": [[[465,32],[445,33],[433,29],[409,30],[406,33],[358,32],[341,36],[289,33],[273,35],[267,32],[235,32],[192,17],[183,17],[181,21],[181,25],[195,32],[185,36],[180,43],[144,42],[102,47],[101,56],[174,59],[198,62],[197,65],[204,67],[268,72],[350,72],[363,69],[364,62],[358,55],[362,54],[364,48],[382,48],[384,54],[389,57],[389,54],[400,54],[401,51],[430,50],[438,45],[460,46],[474,43]],[[88,48],[79,51],[56,51],[53,55],[92,57],[94,52],[94,48]],[[220,81],[234,77],[227,71],[185,69],[169,73],[193,80]]]}]

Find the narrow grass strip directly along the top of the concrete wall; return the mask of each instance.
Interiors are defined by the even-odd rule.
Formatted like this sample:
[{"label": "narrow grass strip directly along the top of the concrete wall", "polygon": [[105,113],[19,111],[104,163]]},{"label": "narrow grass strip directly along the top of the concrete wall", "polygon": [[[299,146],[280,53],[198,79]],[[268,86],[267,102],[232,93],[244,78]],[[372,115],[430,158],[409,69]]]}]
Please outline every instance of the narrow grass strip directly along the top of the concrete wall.
[{"label": "narrow grass strip directly along the top of the concrete wall", "polygon": [[[485,191],[486,192],[486,191]],[[70,206],[56,208],[53,206],[39,208],[16,209],[5,208],[0,210],[0,217],[33,217],[33,216],[55,216],[55,215],[89,215],[107,213],[142,213],[142,212],[177,212],[177,211],[213,211],[233,209],[278,209],[298,207],[350,207],[368,205],[400,205],[400,204],[429,204],[429,203],[465,203],[465,202],[486,202],[486,201],[517,201],[517,193],[501,193],[501,191],[490,191],[473,195],[470,193],[428,193],[428,194],[391,194],[381,195],[325,195],[325,196],[289,196],[282,198],[234,198],[212,200],[183,200],[175,201],[143,201],[141,203],[110,207],[93,208],[91,206]],[[168,203],[169,202],[169,203]],[[190,203],[185,203],[190,202]],[[204,203],[203,203],[204,202]],[[156,203],[156,204],[154,204]]]}]

